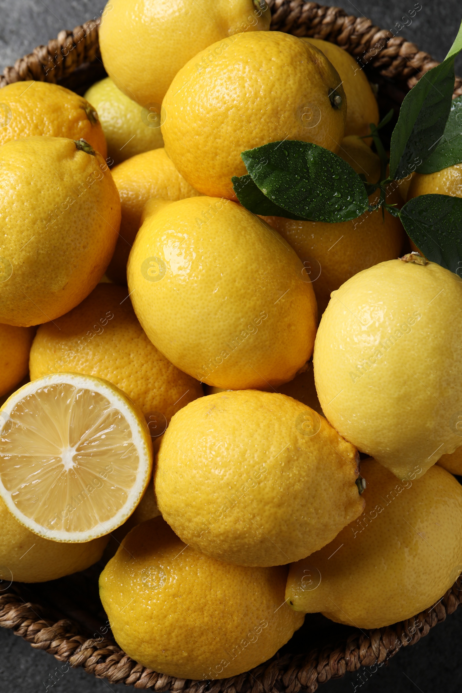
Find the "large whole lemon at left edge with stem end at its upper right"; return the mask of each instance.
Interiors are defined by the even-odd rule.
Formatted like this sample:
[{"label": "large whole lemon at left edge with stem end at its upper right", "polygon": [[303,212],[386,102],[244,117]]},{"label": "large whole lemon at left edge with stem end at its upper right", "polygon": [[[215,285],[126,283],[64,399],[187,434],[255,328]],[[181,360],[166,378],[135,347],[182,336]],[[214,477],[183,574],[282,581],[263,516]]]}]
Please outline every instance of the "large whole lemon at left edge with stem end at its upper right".
[{"label": "large whole lemon at left edge with stem end at its upper right", "polygon": [[103,276],[121,223],[103,157],[71,139],[28,137],[0,147],[0,322],[48,322]]}]

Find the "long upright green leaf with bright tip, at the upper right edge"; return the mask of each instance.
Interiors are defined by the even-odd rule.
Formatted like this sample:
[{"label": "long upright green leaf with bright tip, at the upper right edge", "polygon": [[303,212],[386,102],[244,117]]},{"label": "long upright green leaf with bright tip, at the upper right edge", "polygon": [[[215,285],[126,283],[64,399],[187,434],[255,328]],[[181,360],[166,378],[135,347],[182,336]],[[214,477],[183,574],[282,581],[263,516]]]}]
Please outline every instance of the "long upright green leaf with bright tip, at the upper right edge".
[{"label": "long upright green leaf with bright tip, at the upper right edge", "polygon": [[429,157],[441,138],[454,90],[454,58],[462,50],[462,24],[445,60],[429,70],[403,100],[391,135],[390,175],[404,178]]}]

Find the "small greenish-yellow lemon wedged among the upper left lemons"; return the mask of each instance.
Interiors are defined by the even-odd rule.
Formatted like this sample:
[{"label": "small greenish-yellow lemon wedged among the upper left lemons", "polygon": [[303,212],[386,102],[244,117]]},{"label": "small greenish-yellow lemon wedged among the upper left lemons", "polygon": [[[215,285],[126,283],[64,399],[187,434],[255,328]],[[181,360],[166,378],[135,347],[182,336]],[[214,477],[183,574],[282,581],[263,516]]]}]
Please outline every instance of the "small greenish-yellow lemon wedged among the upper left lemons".
[{"label": "small greenish-yellow lemon wedged among the upper left lemons", "polygon": [[92,85],[85,98],[98,112],[111,164],[163,147],[160,117],[125,96],[110,77]]}]

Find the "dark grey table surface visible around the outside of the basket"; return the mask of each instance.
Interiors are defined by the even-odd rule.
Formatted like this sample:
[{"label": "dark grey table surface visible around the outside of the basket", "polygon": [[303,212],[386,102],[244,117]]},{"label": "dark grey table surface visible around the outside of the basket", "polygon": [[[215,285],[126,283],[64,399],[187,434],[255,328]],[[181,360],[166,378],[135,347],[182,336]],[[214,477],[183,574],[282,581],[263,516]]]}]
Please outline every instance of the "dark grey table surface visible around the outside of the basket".
[{"label": "dark grey table surface visible around the outside of the basket", "polygon": [[[326,4],[328,0],[325,0]],[[333,2],[332,2],[333,4]],[[339,0],[337,6],[351,15],[370,17],[377,26],[392,29],[407,15],[400,35],[421,49],[443,60],[457,33],[462,18],[461,0]],[[82,21],[98,17],[103,0],[0,0],[0,72],[6,65],[44,44],[64,28],[72,29]],[[409,10],[421,8],[409,24]],[[462,60],[456,67],[462,74]],[[360,594],[360,593],[359,593]],[[402,648],[381,669],[361,669],[320,687],[323,693],[459,693],[462,686],[462,608],[436,626],[413,647]],[[0,692],[107,693],[107,690],[135,691],[130,687],[107,684],[81,669],[69,669],[62,678],[55,674],[57,661],[45,652],[34,650],[11,631],[0,629]]]}]

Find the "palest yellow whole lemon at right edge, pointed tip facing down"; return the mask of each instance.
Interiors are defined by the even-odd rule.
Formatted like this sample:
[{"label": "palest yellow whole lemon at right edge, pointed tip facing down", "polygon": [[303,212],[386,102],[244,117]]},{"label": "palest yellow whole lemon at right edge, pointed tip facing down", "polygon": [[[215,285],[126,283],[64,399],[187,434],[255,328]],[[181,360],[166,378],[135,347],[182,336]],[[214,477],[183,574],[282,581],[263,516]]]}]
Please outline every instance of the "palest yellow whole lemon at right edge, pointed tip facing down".
[{"label": "palest yellow whole lemon at right edge, pointed tip facing down", "polygon": [[323,412],[400,479],[460,444],[461,306],[456,274],[391,260],[348,279],[321,319],[314,380]]}]

